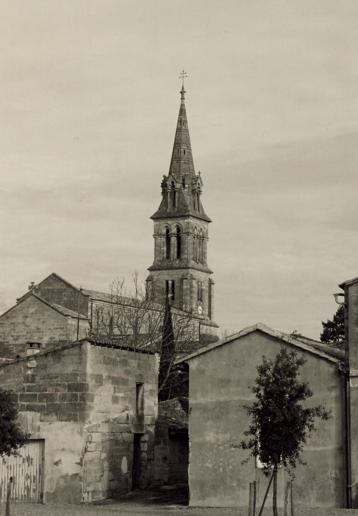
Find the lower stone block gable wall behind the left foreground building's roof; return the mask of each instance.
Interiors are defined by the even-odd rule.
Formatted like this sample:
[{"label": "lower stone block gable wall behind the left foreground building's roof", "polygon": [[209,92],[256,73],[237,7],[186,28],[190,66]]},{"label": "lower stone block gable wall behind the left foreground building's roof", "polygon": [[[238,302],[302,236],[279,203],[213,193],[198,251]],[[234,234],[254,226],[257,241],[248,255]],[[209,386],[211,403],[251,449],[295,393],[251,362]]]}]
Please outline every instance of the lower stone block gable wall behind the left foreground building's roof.
[{"label": "lower stone block gable wall behind the left foreground building's roof", "polygon": [[[80,338],[86,336],[88,323],[80,321]],[[26,356],[26,341],[50,349],[75,340],[77,321],[60,314],[35,296],[29,296],[0,316],[0,354],[15,358]]]}]

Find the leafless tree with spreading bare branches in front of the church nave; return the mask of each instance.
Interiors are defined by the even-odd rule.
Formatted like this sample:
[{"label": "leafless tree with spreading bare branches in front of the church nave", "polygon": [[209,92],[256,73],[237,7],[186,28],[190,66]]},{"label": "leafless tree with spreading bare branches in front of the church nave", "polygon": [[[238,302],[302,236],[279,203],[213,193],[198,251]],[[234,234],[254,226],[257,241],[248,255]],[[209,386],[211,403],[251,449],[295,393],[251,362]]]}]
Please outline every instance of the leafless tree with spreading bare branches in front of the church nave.
[{"label": "leafless tree with spreading bare branches in front of the church nave", "polygon": [[[107,301],[97,305],[92,321],[92,330],[107,339],[135,349],[147,349],[160,353],[161,375],[159,396],[169,399],[175,395],[185,395],[188,374],[185,368],[174,365],[175,360],[190,351],[217,340],[193,312],[184,312],[170,307],[170,298],[160,304],[155,302],[151,292],[146,292],[138,273],[132,275],[131,288],[124,279],[111,283]],[[168,352],[165,331],[167,307],[170,311],[170,352]]]}]

